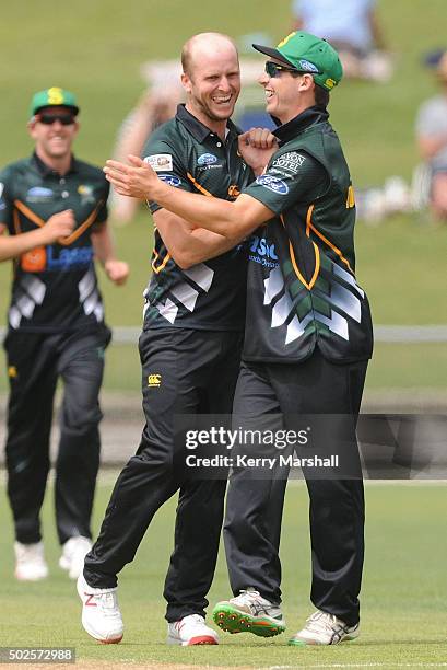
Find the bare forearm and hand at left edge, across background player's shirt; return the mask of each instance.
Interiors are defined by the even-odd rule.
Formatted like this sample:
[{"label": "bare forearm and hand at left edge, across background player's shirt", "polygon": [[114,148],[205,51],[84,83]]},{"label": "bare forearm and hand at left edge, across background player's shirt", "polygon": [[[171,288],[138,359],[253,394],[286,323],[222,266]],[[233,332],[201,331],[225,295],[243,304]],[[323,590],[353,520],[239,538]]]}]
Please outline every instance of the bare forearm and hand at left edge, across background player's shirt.
[{"label": "bare forearm and hand at left edge, across background player's shirt", "polygon": [[4,236],[7,224],[0,222],[0,262],[16,258],[37,246],[47,246],[60,238],[67,238],[73,228],[74,216],[71,209],[54,215],[42,228],[17,235]]}]

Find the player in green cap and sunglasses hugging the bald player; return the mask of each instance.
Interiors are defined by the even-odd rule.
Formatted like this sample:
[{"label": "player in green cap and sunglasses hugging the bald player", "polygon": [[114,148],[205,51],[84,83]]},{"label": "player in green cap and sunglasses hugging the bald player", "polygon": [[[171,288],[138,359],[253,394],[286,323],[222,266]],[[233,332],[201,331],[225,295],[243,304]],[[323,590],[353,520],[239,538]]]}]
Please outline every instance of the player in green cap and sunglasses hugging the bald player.
[{"label": "player in green cap and sunglasses hugging the bald player", "polygon": [[[149,165],[110,161],[108,180],[123,195],[143,195],[222,235],[252,231],[243,367],[234,412],[258,421],[269,414],[348,415],[348,448],[358,461],[360,411],[373,333],[368,301],[355,279],[355,201],[339,138],[328,122],[330,92],[340,83],[337,51],[295,32],[275,49],[259,82],[277,119],[278,147],[262,149],[257,131],[240,151],[258,174],[235,203],[185,194]],[[261,263],[260,243],[269,250]],[[329,451],[338,442],[328,437]],[[313,584],[317,611],[292,645],[331,645],[358,635],[364,555],[364,495],[354,478],[311,478]],[[271,636],[285,629],[279,539],[285,481],[256,478],[235,467],[230,481],[225,547],[234,598],[214,609],[231,633]]]}]

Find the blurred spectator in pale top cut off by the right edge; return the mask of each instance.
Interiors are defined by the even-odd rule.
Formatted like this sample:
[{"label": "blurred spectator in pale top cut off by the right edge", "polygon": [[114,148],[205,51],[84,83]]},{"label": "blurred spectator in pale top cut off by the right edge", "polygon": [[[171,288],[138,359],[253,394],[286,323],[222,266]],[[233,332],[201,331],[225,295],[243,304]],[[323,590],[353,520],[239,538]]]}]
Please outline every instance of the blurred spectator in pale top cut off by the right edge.
[{"label": "blurred spectator in pale top cut off by the right edge", "polygon": [[430,175],[428,201],[436,218],[447,220],[447,50],[430,55],[439,95],[425,101],[417,113],[416,140]]}]

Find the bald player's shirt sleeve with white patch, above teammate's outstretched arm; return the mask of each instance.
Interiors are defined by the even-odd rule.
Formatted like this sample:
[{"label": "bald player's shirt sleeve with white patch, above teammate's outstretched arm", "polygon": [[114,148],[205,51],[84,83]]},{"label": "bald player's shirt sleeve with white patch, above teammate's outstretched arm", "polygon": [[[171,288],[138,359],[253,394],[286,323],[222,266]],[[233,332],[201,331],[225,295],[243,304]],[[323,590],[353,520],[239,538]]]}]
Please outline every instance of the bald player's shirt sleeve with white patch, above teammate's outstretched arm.
[{"label": "bald player's shirt sleeve with white patch, above teammate's outstretched arm", "polygon": [[[158,137],[150,137],[144,149],[143,160],[149,163],[169,186],[192,192],[191,184],[187,177],[187,168],[181,164],[177,153],[169,143]],[[151,213],[162,209],[157,203],[148,201]]]}]

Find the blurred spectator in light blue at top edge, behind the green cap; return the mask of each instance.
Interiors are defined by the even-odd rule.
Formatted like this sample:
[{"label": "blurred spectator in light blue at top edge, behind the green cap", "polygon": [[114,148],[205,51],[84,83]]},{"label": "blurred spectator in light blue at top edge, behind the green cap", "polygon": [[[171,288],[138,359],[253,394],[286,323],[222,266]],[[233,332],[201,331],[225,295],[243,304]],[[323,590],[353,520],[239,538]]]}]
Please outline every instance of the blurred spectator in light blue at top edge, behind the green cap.
[{"label": "blurred spectator in light blue at top edge, behind the green cap", "polygon": [[294,30],[330,42],[345,77],[387,81],[392,63],[375,4],[376,0],[293,0]]}]

